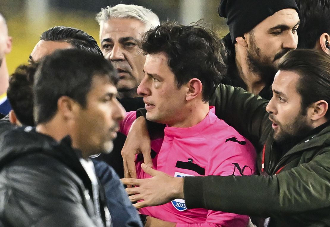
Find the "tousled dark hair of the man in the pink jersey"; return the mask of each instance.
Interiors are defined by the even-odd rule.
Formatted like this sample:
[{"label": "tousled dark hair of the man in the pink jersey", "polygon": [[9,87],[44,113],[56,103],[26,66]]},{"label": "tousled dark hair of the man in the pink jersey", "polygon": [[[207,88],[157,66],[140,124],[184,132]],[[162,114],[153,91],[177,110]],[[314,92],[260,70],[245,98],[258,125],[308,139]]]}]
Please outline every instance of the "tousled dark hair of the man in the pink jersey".
[{"label": "tousled dark hair of the man in the pink jersey", "polygon": [[215,32],[198,24],[188,26],[167,22],[145,33],[145,54],[166,53],[168,66],[178,88],[192,78],[203,84],[203,101],[209,101],[226,73],[227,52]]}]

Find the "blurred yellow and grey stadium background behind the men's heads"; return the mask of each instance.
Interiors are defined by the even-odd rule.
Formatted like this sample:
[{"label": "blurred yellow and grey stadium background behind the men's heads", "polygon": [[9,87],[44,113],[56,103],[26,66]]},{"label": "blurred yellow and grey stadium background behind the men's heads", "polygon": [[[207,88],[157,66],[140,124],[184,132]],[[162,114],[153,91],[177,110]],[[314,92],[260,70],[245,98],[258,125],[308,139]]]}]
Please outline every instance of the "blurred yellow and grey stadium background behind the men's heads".
[{"label": "blurred yellow and grey stadium background behind the men's heads", "polygon": [[9,73],[27,63],[40,35],[53,26],[81,29],[99,43],[95,16],[102,7],[118,3],[142,5],[156,13],[160,21],[189,24],[203,19],[220,36],[228,33],[225,19],[217,14],[219,0],[0,0],[0,13],[6,18],[13,38],[12,52],[6,56]]}]

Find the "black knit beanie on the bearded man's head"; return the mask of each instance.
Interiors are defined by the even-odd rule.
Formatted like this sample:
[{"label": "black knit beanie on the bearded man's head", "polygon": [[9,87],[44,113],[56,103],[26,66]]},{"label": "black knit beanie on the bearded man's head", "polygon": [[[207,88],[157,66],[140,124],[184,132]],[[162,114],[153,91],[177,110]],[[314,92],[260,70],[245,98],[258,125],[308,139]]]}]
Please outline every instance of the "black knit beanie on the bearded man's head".
[{"label": "black knit beanie on the bearded man's head", "polygon": [[218,13],[227,18],[231,40],[235,43],[235,38],[251,31],[267,17],[288,8],[299,12],[295,0],[221,0]]}]

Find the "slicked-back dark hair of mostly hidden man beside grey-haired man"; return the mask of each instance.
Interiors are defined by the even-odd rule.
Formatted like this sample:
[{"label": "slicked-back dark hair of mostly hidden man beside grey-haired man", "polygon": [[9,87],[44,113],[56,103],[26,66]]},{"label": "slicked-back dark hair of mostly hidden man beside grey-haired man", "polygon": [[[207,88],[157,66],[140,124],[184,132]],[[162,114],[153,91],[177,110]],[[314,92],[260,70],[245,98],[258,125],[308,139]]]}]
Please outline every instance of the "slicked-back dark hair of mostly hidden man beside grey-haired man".
[{"label": "slicked-back dark hair of mostly hidden man beside grey-haired man", "polygon": [[85,50],[86,52],[103,57],[102,51],[95,39],[77,28],[64,26],[52,27],[43,32],[40,40],[70,43],[76,49]]}]

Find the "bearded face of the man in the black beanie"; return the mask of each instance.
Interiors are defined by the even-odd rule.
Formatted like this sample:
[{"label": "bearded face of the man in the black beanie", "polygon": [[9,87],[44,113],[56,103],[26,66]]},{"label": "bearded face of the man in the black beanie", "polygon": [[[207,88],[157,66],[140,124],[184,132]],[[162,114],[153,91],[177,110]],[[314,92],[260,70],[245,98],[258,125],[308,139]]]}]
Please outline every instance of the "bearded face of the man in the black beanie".
[{"label": "bearded face of the man in the black beanie", "polygon": [[273,82],[277,66],[289,50],[297,48],[298,13],[284,9],[267,17],[247,35],[247,64],[250,71],[259,73],[264,81]]}]

